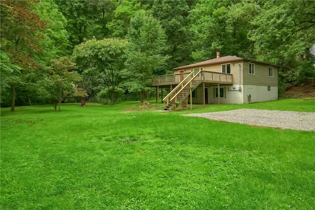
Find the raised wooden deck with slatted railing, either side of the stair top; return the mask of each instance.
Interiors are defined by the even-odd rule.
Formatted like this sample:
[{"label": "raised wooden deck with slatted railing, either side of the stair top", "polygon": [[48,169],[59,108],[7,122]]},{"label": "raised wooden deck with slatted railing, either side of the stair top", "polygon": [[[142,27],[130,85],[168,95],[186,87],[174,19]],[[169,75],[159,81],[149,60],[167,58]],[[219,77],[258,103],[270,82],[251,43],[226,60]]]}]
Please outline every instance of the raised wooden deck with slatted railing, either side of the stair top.
[{"label": "raised wooden deck with slatted railing, either side of the stair top", "polygon": [[[183,81],[191,72],[181,74],[168,74],[154,77],[152,79],[152,87],[156,86],[169,86],[178,85]],[[219,73],[213,71],[201,71],[196,77],[197,80],[204,83],[213,84],[227,84],[233,85],[232,74]]]}]

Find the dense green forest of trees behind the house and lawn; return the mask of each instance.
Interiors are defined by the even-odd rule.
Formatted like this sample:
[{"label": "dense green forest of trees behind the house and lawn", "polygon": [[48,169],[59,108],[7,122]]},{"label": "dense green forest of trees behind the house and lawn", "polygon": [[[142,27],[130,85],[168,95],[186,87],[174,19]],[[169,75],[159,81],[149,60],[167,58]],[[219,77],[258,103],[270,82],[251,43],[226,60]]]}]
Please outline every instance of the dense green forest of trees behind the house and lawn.
[{"label": "dense green forest of trees behind the house and lawn", "polygon": [[[315,79],[315,1],[1,0],[1,107],[143,102],[151,78],[222,56]],[[153,93],[152,93],[153,91]]]}]

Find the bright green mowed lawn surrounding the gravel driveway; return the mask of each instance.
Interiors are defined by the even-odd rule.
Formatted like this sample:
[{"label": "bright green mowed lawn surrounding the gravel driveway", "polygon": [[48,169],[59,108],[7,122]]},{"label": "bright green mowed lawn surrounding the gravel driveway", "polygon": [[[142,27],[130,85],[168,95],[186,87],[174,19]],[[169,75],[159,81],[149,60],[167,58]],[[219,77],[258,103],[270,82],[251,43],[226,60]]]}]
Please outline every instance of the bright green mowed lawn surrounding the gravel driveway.
[{"label": "bright green mowed lawn surrounding the gravel driveway", "polygon": [[87,105],[1,109],[1,209],[315,209],[315,132],[181,116],[314,100]]}]

